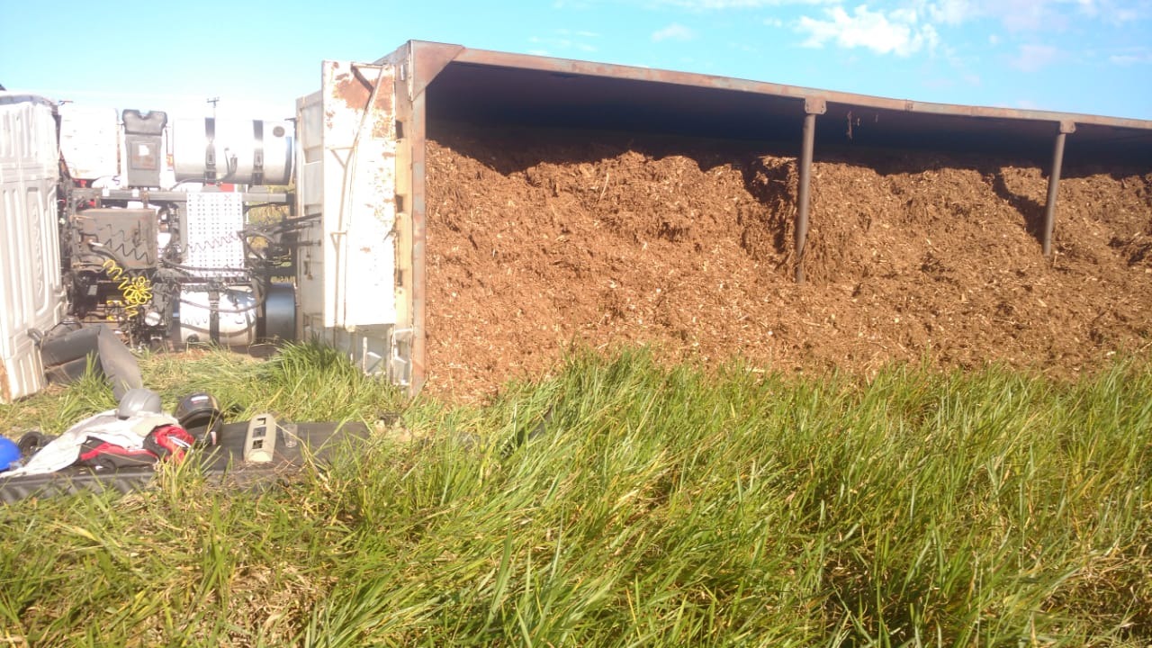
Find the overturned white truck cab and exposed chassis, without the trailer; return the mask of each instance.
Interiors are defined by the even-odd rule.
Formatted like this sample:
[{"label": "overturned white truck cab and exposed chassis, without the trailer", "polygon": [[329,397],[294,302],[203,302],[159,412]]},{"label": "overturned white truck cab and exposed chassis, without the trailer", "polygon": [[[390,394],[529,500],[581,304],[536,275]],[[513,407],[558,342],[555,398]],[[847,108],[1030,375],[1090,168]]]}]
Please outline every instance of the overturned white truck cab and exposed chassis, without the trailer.
[{"label": "overturned white truck cab and exposed chassis, without the trailer", "polygon": [[119,395],[139,382],[124,342],[293,338],[294,221],[248,218],[288,203],[268,186],[290,181],[289,128],[0,92],[0,401],[90,355]]}]

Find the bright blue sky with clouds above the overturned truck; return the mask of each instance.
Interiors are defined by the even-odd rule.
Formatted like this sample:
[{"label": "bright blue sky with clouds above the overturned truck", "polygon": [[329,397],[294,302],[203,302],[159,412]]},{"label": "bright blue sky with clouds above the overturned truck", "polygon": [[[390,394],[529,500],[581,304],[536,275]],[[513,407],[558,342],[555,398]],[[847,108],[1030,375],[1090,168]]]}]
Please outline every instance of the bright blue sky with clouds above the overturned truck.
[{"label": "bright blue sky with clouds above the overturned truck", "polygon": [[118,108],[285,118],[321,60],[420,39],[1152,120],[1152,0],[2,2],[0,84]]}]

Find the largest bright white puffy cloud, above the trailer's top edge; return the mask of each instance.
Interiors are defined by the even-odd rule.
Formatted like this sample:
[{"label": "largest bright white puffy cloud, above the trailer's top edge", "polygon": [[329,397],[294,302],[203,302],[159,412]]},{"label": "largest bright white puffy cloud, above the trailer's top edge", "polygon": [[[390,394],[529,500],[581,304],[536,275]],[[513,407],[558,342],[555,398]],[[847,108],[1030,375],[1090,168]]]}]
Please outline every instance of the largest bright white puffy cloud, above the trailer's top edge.
[{"label": "largest bright white puffy cloud, above the trailer's top edge", "polygon": [[805,47],[823,47],[834,43],[840,47],[866,47],[879,54],[907,56],[923,48],[932,50],[939,43],[935,28],[922,24],[912,9],[872,12],[867,5],[856,7],[851,14],[843,7],[824,10],[827,20],[802,16],[796,31],[808,35]]}]

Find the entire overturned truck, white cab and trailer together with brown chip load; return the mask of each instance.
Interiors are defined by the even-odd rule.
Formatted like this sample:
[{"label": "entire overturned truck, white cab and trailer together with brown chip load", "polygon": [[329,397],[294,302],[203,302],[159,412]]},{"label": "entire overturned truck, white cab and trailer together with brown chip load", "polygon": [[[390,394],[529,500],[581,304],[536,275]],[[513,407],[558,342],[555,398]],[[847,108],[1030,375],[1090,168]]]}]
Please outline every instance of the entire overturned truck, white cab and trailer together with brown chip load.
[{"label": "entire overturned truck, white cab and trailer together with brown chip load", "polygon": [[[35,134],[2,151],[5,400],[66,317],[130,344],[321,339],[465,397],[574,346],[1068,374],[1152,344],[1152,121],[410,42],[324,62],[294,137],[124,111],[121,184],[97,187],[56,167],[76,131],[52,103],[5,101]],[[169,152],[205,190],[157,179]],[[266,203],[289,217],[252,224]]]}]

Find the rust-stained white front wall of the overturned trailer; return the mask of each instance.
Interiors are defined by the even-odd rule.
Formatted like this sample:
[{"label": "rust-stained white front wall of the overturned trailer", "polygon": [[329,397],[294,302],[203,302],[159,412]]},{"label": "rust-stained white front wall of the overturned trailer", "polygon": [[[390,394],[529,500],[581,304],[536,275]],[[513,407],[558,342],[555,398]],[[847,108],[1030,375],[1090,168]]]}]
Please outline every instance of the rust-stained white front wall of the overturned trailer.
[{"label": "rust-stained white front wall of the overturned trailer", "polygon": [[391,371],[396,304],[395,68],[325,61],[297,101],[301,331]]}]

